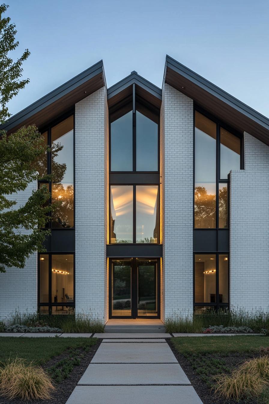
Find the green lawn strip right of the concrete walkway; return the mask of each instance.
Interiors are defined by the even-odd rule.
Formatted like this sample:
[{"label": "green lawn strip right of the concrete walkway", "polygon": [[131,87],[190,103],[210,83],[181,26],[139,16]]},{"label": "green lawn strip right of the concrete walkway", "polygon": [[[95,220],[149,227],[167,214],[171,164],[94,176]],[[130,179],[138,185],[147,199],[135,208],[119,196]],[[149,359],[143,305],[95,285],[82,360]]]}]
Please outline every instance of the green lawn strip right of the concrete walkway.
[{"label": "green lawn strip right of the concrete walkway", "polygon": [[261,346],[269,345],[265,335],[238,335],[223,337],[177,337],[171,338],[179,353],[232,353],[258,352]]}]

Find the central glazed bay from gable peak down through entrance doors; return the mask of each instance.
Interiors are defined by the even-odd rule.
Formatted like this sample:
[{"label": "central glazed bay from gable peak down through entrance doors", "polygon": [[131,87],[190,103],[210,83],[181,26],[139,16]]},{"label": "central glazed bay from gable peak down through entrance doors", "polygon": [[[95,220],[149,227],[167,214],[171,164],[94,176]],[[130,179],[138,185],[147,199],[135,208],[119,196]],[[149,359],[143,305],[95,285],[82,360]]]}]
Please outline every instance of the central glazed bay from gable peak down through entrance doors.
[{"label": "central glazed bay from gable peak down through entrance doors", "polygon": [[[109,260],[109,316],[156,318],[160,265],[150,246],[160,243],[159,109],[143,101],[135,85],[129,99],[110,110],[109,149],[109,244],[121,257]],[[128,255],[127,245],[147,245],[147,256]]]}]

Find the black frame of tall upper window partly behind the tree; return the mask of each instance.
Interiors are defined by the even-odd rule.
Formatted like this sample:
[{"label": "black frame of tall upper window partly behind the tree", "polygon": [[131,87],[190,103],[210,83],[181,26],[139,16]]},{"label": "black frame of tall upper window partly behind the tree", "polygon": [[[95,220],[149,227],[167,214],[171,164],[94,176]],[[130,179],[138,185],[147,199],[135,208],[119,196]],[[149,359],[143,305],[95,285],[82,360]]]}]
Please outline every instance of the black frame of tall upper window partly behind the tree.
[{"label": "black frame of tall upper window partly behind the tree", "polygon": [[[56,120],[50,122],[50,124],[46,126],[42,126],[39,128],[39,132],[41,134],[47,132],[48,133],[48,144],[47,146],[51,148],[51,129],[58,125],[59,123],[63,122],[70,116],[73,116],[73,227],[52,227],[52,215],[51,212],[48,213],[48,216],[50,217],[50,220],[46,223],[46,227],[43,227],[41,230],[46,230],[46,229],[52,229],[54,230],[74,230],[75,229],[75,110],[72,108],[70,111],[65,113],[64,115],[61,115],[59,118]],[[51,152],[47,152],[47,175],[51,175]],[[52,203],[52,181],[47,181],[47,180],[38,180],[38,187],[42,184],[48,184],[49,187],[49,192],[50,192],[50,198],[48,202],[51,204]]]}]

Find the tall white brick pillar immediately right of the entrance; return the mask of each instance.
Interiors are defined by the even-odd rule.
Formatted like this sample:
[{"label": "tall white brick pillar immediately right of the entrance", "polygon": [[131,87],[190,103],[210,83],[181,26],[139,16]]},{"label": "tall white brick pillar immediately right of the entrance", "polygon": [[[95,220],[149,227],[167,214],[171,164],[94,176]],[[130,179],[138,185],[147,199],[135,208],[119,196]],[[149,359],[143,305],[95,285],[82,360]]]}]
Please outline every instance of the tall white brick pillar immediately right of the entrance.
[{"label": "tall white brick pillar immediately right of the entrance", "polygon": [[[193,309],[193,101],[164,84],[165,317]],[[161,193],[162,197],[162,193]]]}]

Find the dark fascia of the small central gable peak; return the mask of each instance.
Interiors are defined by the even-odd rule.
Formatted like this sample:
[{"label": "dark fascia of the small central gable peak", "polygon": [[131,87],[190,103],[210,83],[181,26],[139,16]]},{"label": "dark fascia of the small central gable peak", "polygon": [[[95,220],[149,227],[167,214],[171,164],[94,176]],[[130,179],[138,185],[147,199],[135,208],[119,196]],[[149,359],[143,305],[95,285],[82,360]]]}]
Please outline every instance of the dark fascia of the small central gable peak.
[{"label": "dark fascia of the small central gable peak", "polygon": [[125,77],[123,80],[109,87],[107,90],[107,99],[110,99],[120,93],[125,88],[131,86],[132,84],[137,84],[138,86],[144,88],[144,90],[148,91],[148,93],[152,94],[154,97],[158,99],[162,99],[162,90],[161,88],[155,86],[144,77],[139,74],[133,72],[129,74],[129,76]]}]

